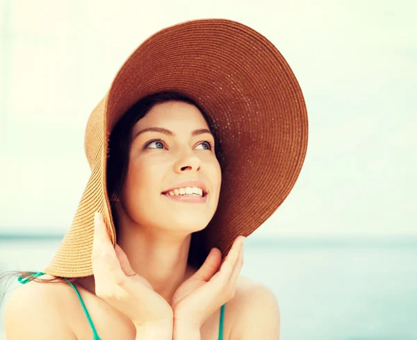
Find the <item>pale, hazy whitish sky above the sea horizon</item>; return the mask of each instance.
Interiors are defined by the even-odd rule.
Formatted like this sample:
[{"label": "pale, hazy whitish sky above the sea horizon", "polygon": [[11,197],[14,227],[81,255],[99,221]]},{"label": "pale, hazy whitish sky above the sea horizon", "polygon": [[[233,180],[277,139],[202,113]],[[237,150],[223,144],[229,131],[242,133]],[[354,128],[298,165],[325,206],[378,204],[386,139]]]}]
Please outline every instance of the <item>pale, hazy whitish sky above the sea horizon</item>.
[{"label": "pale, hazy whitish sky above the sea horizon", "polygon": [[65,232],[90,175],[85,124],[124,60],[161,28],[224,17],[277,46],[309,110],[300,177],[256,235],[417,235],[414,1],[0,6],[0,232]]}]

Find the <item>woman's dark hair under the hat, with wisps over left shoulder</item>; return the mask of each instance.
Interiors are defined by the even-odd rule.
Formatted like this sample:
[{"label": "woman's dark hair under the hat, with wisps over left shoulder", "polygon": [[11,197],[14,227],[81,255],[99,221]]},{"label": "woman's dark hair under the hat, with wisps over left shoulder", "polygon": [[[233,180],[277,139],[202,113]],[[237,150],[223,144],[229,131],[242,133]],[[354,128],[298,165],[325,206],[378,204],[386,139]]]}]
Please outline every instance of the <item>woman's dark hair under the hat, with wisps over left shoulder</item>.
[{"label": "woman's dark hair under the hat, with wisps over left shoulder", "polygon": [[[213,122],[210,117],[202,110],[202,108],[190,99],[185,94],[175,91],[165,91],[158,92],[156,94],[151,94],[149,96],[140,99],[138,102],[133,104],[129,110],[127,110],[122,118],[117,121],[117,124],[113,128],[108,142],[108,162],[107,162],[107,189],[108,189],[108,198],[111,202],[111,210],[113,221],[115,222],[116,237],[117,237],[117,214],[115,210],[115,199],[120,196],[124,182],[126,181],[127,169],[129,166],[129,155],[132,139],[132,130],[136,122],[139,119],[145,117],[147,112],[152,109],[157,103],[164,103],[166,101],[183,101],[195,105],[199,111],[202,113],[204,119],[213,133],[215,138],[215,155],[218,158],[219,162],[222,159],[220,140],[216,136],[215,131],[213,130]],[[221,164],[220,164],[221,165]],[[202,265],[205,258],[199,255],[201,252],[198,251],[200,246],[199,236],[201,231],[194,232],[191,236],[190,251],[188,254],[188,263],[195,268],[199,268]],[[33,271],[11,271],[9,274],[3,274],[0,276],[0,282],[3,278],[6,277],[15,277],[22,276],[22,278],[28,280],[34,280],[36,282],[42,283],[60,283],[60,282],[72,282],[74,283],[78,278],[60,278],[56,277],[49,280],[40,280],[33,277]],[[6,293],[5,293],[6,294]]]}]

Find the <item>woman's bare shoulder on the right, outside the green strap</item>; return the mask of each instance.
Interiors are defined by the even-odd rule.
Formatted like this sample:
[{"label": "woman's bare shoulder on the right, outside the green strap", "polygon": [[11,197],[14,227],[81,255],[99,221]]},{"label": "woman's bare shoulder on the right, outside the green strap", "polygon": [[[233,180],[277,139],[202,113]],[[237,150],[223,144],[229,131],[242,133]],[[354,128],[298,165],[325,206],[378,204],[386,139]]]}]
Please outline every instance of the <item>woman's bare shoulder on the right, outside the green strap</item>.
[{"label": "woman's bare shoulder on the right, outside the green strap", "polygon": [[279,339],[277,297],[265,284],[240,275],[236,294],[226,305],[232,318],[229,339]]}]

